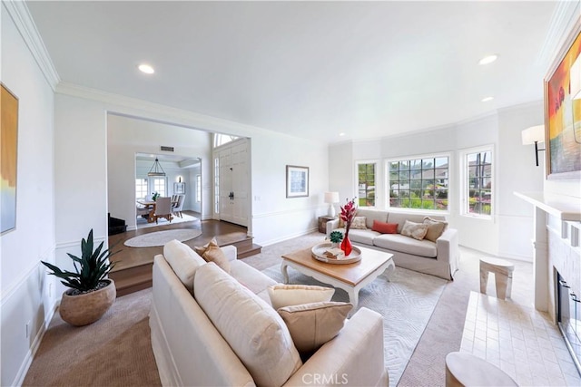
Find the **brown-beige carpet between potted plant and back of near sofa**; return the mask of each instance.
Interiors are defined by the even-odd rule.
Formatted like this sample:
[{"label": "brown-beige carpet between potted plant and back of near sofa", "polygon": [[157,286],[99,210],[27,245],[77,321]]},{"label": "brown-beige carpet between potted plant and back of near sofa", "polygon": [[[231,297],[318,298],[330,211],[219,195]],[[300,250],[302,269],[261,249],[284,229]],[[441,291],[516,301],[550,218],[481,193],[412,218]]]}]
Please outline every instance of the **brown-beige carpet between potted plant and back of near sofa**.
[{"label": "brown-beige carpet between potted plant and back of near sofa", "polygon": [[24,386],[160,386],[149,330],[151,289],[117,298],[94,324],[54,315]]}]

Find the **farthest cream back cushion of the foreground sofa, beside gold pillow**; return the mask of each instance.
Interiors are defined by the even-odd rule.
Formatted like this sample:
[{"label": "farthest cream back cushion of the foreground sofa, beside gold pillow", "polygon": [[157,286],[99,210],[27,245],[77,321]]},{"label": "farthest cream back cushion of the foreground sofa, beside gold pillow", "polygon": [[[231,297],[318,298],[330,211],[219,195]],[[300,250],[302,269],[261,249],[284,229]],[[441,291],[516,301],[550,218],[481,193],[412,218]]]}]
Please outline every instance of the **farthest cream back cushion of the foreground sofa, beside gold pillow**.
[{"label": "farthest cream back cushion of the foreground sofa, beside gold pillow", "polygon": [[193,293],[193,274],[199,266],[206,264],[202,256],[176,239],[163,246],[163,256],[172,266],[173,273],[180,278],[190,293]]}]

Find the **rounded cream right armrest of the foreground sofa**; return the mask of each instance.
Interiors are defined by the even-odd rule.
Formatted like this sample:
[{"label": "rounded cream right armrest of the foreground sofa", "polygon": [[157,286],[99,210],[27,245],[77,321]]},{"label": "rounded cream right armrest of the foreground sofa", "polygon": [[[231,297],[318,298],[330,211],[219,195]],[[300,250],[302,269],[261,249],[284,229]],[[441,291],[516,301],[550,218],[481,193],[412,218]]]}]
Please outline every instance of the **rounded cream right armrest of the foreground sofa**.
[{"label": "rounded cream right armrest of the foreground sofa", "polygon": [[375,386],[389,384],[383,361],[381,314],[361,307],[340,334],[320,347],[285,383]]}]

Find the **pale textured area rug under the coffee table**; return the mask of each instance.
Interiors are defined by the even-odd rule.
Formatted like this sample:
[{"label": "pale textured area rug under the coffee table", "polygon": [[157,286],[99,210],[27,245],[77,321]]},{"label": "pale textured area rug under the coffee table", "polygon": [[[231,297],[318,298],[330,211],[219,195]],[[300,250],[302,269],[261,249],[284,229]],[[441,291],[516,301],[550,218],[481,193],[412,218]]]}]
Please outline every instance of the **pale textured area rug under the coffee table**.
[{"label": "pale textured area rug under the coffee table", "polygon": [[[279,265],[262,272],[283,282]],[[288,272],[291,284],[329,286],[291,267]],[[447,283],[436,276],[396,267],[389,282],[385,275],[381,275],[360,290],[359,307],[365,306],[383,316],[384,358],[389,385],[398,385]],[[336,289],[332,300],[349,302],[349,296],[344,290]]]}]

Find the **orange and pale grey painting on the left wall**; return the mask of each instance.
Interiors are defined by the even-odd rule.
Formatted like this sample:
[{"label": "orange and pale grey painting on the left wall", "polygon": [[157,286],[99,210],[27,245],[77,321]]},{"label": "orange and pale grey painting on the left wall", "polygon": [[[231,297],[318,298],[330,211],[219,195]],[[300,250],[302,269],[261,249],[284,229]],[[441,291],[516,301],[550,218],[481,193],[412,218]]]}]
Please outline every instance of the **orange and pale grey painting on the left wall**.
[{"label": "orange and pale grey painting on the left wall", "polygon": [[16,161],[18,160],[18,98],[0,84],[0,233],[16,227]]}]

